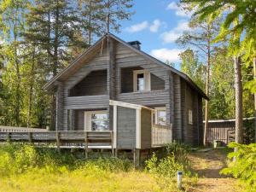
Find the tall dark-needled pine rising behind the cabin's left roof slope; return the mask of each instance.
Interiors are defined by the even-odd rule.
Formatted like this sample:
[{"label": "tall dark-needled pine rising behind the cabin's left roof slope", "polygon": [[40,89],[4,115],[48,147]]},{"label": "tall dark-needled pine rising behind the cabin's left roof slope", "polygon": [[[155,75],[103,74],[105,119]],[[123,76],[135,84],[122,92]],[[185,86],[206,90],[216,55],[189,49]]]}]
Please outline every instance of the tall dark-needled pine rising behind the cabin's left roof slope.
[{"label": "tall dark-needled pine rising behind the cabin's left roof slope", "polygon": [[[67,0],[36,0],[26,15],[29,26],[25,33],[26,40],[40,46],[47,53],[44,64],[49,79],[54,77],[73,59],[68,48],[87,47],[86,41],[77,33],[81,29],[79,15],[75,13],[73,4]],[[55,95],[52,94],[51,129],[55,129]]]}]

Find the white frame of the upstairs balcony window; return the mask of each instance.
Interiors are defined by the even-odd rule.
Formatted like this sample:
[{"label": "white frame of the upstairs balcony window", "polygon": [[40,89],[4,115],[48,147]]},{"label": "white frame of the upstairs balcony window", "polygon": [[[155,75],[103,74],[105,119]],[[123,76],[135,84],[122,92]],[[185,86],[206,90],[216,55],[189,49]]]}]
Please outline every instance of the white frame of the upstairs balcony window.
[{"label": "white frame of the upstairs balcony window", "polygon": [[[143,74],[144,77],[144,90],[137,90],[137,75]],[[151,90],[151,79],[150,79],[150,73],[145,70],[135,70],[133,71],[133,91],[134,92],[143,92]]]}]

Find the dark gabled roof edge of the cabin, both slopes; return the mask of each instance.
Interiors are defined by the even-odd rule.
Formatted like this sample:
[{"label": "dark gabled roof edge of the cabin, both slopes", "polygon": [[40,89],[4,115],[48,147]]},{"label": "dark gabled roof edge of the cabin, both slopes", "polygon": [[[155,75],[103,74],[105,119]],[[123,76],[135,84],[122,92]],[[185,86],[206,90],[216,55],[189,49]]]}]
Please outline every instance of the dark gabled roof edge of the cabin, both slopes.
[{"label": "dark gabled roof edge of the cabin, both slopes", "polygon": [[159,64],[161,67],[165,67],[167,70],[172,71],[172,73],[176,73],[181,78],[186,80],[188,82],[188,84],[190,84],[195,90],[197,90],[201,94],[201,96],[203,96],[205,99],[209,100],[209,98],[204,93],[204,91],[202,91],[185,73],[182,73],[182,72],[178,71],[177,69],[167,65],[166,63],[157,60],[153,56],[148,55],[147,53],[143,52],[141,49],[137,49],[137,48],[133,47],[131,44],[126,43],[125,41],[116,37],[112,33],[106,33],[102,38],[97,40],[95,44],[91,45],[88,49],[84,50],[84,52],[81,55],[79,55],[79,57],[77,59],[75,59],[70,65],[68,65],[66,68],[64,68],[61,71],[61,73],[58,73],[53,79],[51,79],[47,84],[45,84],[44,90],[51,90],[55,86],[56,82],[65,79],[65,77],[67,77],[69,75],[69,73],[71,73],[72,71],[81,67],[84,64],[84,61],[90,60],[90,58],[93,57],[93,55],[95,55],[96,49],[100,48],[100,46],[102,45],[102,41],[104,41],[106,38],[113,38],[116,41],[118,41],[120,44],[124,44],[125,46],[129,47],[130,49],[135,51],[137,54],[143,55],[148,60],[153,61],[154,63]]}]

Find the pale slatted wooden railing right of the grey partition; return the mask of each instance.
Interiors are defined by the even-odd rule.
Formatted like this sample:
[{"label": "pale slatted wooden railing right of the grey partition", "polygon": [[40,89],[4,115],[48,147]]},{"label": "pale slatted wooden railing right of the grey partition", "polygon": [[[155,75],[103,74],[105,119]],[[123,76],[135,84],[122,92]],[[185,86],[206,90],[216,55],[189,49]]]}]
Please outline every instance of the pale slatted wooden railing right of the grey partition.
[{"label": "pale slatted wooden railing right of the grey partition", "polygon": [[172,125],[152,125],[152,147],[172,143]]}]

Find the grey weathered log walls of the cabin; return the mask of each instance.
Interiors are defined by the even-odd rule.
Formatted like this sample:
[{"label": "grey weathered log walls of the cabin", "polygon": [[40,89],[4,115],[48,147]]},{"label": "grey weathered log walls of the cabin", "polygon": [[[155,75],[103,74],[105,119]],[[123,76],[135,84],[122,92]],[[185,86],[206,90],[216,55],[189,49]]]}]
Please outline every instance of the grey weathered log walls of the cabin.
[{"label": "grey weathered log walls of the cabin", "polygon": [[[58,93],[59,95],[61,93],[58,101],[61,102],[62,99],[62,107],[59,105],[58,110],[62,110],[62,113],[58,114],[60,115],[58,127],[67,130],[67,110],[76,110],[74,129],[80,130],[83,128],[84,110],[107,109],[110,118],[109,126],[112,129],[112,108],[109,108],[108,102],[109,99],[114,99],[152,108],[166,106],[166,121],[167,125],[172,124],[173,138],[189,144],[201,143],[202,103],[201,96],[198,95],[197,91],[190,88],[189,84],[176,73],[172,73],[166,67],[161,67],[154,61],[139,55],[124,44],[111,40],[109,41],[109,49],[106,45],[107,42],[105,41],[102,49],[97,51],[96,56],[90,61],[84,62],[83,67],[71,74],[61,85],[62,88],[60,89],[62,90]],[[131,69],[148,70],[151,76],[151,91],[131,92],[133,90]],[[99,79],[98,75],[92,75],[106,71],[108,71],[107,75],[105,73],[104,75],[99,74],[101,76]],[[99,80],[102,85],[98,86],[99,89],[92,91],[93,87],[90,85],[95,83],[93,76],[95,76],[95,82]],[[86,81],[86,83],[83,81],[84,78],[90,79],[90,81]],[[107,84],[103,83],[103,79]],[[127,79],[129,81],[126,81]],[[89,89],[85,91],[85,95],[93,92],[96,96],[68,96],[69,91],[79,82],[84,86],[83,91]],[[107,91],[106,89],[101,90],[100,87],[107,87]],[[193,125],[188,124],[189,109],[193,111]],[[61,119],[63,120],[61,121]]]}]

